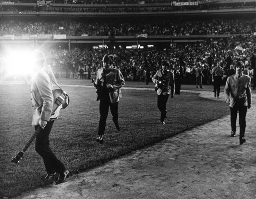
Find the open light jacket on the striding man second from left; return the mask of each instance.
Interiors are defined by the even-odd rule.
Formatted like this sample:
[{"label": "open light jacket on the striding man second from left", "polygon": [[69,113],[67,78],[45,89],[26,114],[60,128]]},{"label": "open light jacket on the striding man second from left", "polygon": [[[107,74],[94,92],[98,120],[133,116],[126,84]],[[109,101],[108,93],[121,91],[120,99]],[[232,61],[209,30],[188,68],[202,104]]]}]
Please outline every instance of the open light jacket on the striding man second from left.
[{"label": "open light jacket on the striding man second from left", "polygon": [[[103,86],[104,78],[103,78],[103,67],[97,70],[97,81],[100,81],[101,86]],[[122,98],[121,89],[124,86],[124,78],[122,73],[117,68],[112,68],[111,71],[106,74],[106,84],[111,84],[114,88],[112,92],[110,92],[110,101],[111,103],[118,102]]]}]

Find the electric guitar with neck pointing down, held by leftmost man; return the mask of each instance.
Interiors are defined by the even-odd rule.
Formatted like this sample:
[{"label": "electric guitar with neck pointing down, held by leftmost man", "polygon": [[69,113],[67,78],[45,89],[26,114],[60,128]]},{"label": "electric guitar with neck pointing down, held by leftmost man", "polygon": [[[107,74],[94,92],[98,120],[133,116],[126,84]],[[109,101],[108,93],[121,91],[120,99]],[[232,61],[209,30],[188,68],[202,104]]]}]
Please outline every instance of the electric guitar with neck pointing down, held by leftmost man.
[{"label": "electric guitar with neck pointing down, held by leftmost man", "polygon": [[[56,119],[60,115],[60,110],[65,109],[69,105],[69,96],[65,91],[61,89],[54,89],[52,91],[52,94],[53,94],[54,102],[53,102],[52,112],[50,116],[51,120]],[[19,152],[14,157],[12,157],[11,162],[17,164],[22,159],[24,153],[26,152],[30,144],[34,141],[34,139],[37,137],[38,133],[40,133],[41,130],[42,128],[38,126],[35,133],[28,140],[27,144],[24,146],[22,151]]]}]

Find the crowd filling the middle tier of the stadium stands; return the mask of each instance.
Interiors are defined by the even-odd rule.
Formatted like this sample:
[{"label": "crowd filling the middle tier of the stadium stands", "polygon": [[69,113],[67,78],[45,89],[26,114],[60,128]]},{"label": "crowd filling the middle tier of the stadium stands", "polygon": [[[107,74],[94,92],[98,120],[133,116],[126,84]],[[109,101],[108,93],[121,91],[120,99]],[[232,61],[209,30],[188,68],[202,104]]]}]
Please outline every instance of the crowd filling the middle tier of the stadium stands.
[{"label": "crowd filling the middle tier of the stadium stands", "polygon": [[134,22],[86,22],[0,20],[0,36],[23,34],[66,34],[70,36],[128,36],[147,35],[202,35],[202,34],[253,34],[256,18],[211,19],[188,21],[145,21]]}]

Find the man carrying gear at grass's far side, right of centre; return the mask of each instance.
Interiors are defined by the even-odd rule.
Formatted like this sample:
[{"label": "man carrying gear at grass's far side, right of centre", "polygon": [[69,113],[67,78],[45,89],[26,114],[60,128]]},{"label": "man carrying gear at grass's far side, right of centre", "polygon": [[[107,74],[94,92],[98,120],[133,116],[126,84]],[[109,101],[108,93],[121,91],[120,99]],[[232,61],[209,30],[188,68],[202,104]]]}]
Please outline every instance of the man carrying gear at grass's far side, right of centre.
[{"label": "man carrying gear at grass's far side, right of centre", "polygon": [[158,85],[157,86],[157,94],[158,94],[158,109],[161,112],[160,122],[162,125],[165,124],[164,120],[166,118],[166,103],[171,93],[171,98],[174,95],[174,75],[169,70],[169,63],[167,61],[163,61],[161,64],[161,68],[156,72],[156,74],[152,77],[152,81]]}]

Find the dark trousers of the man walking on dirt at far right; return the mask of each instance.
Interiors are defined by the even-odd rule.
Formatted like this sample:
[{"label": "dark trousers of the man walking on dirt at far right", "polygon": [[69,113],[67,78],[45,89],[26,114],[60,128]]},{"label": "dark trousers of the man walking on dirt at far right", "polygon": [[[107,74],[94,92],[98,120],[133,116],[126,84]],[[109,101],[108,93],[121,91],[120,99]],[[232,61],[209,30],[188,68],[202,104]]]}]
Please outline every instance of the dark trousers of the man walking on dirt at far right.
[{"label": "dark trousers of the man walking on dirt at far right", "polygon": [[236,132],[236,118],[237,112],[239,112],[239,126],[240,126],[240,136],[244,137],[245,127],[246,127],[246,112],[247,106],[233,106],[230,107],[230,120],[231,120],[231,129],[233,132]]}]

